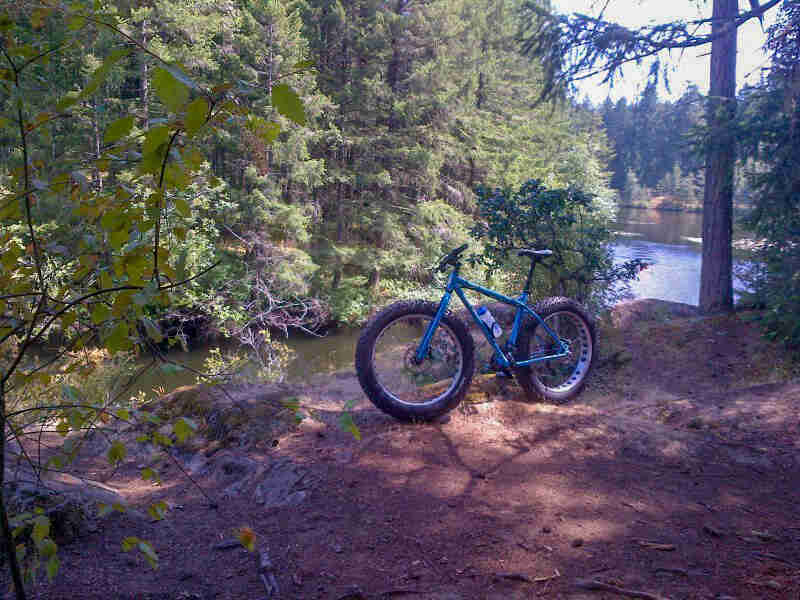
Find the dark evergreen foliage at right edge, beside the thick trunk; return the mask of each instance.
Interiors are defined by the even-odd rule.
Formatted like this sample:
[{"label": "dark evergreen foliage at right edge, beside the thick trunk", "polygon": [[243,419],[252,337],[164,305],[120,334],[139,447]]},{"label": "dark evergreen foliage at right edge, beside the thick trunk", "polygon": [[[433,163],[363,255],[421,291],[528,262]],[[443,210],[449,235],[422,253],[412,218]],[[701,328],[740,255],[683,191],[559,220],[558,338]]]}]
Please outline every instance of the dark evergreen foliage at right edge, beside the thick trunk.
[{"label": "dark evergreen foliage at right edge, beside the thick trunk", "polygon": [[770,29],[772,65],[760,88],[740,103],[745,152],[759,162],[750,172],[755,190],[745,226],[759,240],[756,261],[742,273],[743,300],[766,308],[767,336],[800,351],[800,102],[796,78],[800,43],[787,36],[800,23],[800,7],[786,3]]}]

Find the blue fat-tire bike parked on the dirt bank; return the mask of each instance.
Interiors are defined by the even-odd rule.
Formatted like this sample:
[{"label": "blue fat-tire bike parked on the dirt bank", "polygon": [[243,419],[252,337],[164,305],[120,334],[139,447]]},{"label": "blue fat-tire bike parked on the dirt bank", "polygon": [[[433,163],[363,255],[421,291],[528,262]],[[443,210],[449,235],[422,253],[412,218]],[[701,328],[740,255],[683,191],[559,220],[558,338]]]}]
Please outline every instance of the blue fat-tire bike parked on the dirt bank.
[{"label": "blue fat-tire bike parked on the dirt bank", "polygon": [[[562,297],[528,306],[533,271],[551,250],[518,251],[530,258],[531,266],[522,294],[509,298],[459,276],[466,249],[456,248],[439,262],[439,271],[452,271],[438,305],[392,304],[372,317],[359,337],[355,365],[361,387],[375,406],[402,421],[427,421],[452,410],[472,381],[475,344],[467,325],[448,311],[454,293],[493,349],[494,369],[512,373],[529,399],[564,402],[581,390],[591,369],[595,327],[586,310]],[[464,290],[516,309],[504,343]]]}]

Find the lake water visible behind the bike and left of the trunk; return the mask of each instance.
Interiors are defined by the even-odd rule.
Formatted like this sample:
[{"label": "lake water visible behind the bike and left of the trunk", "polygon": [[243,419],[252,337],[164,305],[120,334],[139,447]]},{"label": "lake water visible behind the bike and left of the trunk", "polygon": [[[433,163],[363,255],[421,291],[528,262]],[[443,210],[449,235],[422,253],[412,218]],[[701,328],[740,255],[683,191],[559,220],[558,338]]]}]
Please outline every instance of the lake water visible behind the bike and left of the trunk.
[{"label": "lake water visible behind the bike and left of the trunk", "polygon": [[[697,304],[700,289],[700,237],[702,215],[643,209],[621,209],[613,228],[619,232],[616,260],[640,258],[650,267],[631,283],[635,298],[657,298]],[[281,340],[296,353],[289,365],[288,381],[310,375],[353,368],[359,330],[341,328],[323,337],[292,335]],[[174,356],[176,362],[202,369],[207,349]],[[161,386],[169,391],[194,383],[195,375],[183,372],[156,375],[144,389]]]}]

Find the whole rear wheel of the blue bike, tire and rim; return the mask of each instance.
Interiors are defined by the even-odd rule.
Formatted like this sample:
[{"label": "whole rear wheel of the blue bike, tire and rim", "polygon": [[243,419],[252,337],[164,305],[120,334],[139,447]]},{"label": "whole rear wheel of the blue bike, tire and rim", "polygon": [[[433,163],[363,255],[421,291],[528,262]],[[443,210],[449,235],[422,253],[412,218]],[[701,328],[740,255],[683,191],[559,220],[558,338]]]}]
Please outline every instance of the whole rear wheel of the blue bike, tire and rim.
[{"label": "whole rear wheel of the blue bike, tire and rim", "polygon": [[[581,391],[595,354],[594,322],[584,308],[569,298],[547,298],[534,311],[567,346],[567,355],[516,369],[516,377],[528,398],[537,396],[566,402]],[[517,360],[558,354],[558,344],[541,323],[528,320],[520,332]]]}]

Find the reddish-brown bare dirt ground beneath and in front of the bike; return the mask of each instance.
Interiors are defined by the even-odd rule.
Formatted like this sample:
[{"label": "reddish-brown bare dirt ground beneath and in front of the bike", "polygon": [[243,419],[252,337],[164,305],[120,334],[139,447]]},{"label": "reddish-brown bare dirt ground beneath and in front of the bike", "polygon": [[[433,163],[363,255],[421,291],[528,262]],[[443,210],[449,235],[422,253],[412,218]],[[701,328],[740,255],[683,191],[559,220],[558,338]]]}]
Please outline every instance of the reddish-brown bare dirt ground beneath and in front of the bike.
[{"label": "reddish-brown bare dirt ground beneath and in front of the bike", "polygon": [[[32,596],[259,599],[264,575],[281,599],[800,598],[800,380],[754,316],[618,309],[565,406],[483,376],[440,422],[404,425],[352,374],[318,378],[319,421],[187,458],[208,497],[175,464],[160,486],[137,460],[119,469],[108,483],[167,518],[98,520]],[[360,441],[325,424],[348,402]],[[240,525],[271,566],[230,543]]]}]

